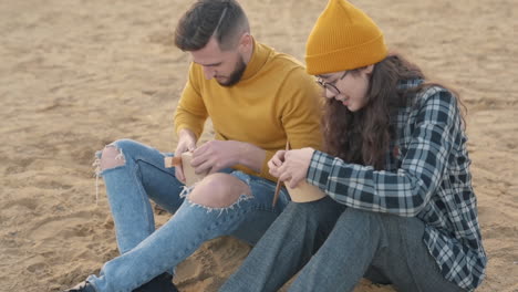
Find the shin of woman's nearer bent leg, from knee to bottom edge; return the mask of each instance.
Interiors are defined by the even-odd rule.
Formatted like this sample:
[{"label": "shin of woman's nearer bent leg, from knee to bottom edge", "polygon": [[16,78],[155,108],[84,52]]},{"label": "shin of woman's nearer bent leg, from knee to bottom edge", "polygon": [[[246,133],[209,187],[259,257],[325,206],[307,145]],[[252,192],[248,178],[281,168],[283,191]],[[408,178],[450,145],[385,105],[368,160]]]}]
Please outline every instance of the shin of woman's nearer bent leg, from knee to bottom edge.
[{"label": "shin of woman's nearer bent leg, from knee to bottom edge", "polygon": [[385,244],[380,217],[346,208],[289,291],[352,291]]}]

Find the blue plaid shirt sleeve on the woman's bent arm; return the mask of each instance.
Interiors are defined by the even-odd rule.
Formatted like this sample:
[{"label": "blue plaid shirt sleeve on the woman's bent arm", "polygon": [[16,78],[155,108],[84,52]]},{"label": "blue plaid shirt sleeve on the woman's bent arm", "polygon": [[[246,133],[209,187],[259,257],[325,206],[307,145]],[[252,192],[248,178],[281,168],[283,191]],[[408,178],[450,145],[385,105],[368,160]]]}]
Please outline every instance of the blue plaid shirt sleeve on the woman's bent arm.
[{"label": "blue plaid shirt sleeve on the woman's bent arm", "polygon": [[441,186],[460,123],[455,97],[438,91],[417,111],[411,143],[395,173],[315,152],[308,181],[352,208],[416,216]]}]

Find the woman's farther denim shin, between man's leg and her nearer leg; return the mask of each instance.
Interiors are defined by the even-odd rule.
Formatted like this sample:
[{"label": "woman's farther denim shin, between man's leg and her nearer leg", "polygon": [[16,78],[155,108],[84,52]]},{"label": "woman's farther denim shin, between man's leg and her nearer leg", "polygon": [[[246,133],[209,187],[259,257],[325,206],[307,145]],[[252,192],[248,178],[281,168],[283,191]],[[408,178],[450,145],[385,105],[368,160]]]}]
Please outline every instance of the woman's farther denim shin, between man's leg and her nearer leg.
[{"label": "woman's farther denim shin, between man's leg and her nearer leg", "polygon": [[343,210],[329,197],[289,204],[220,291],[277,291],[323,243]]}]

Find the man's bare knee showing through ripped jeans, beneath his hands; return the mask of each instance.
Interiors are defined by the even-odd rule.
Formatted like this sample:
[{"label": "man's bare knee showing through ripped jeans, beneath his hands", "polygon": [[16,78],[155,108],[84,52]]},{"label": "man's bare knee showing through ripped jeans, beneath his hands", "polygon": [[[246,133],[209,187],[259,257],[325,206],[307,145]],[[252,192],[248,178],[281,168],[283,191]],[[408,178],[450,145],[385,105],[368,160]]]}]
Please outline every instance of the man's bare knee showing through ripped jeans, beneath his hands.
[{"label": "man's bare knee showing through ripped jeans, beneath his hands", "polygon": [[241,196],[251,196],[247,184],[231,175],[213,174],[196,185],[188,199],[210,208],[226,208],[236,204]]}]

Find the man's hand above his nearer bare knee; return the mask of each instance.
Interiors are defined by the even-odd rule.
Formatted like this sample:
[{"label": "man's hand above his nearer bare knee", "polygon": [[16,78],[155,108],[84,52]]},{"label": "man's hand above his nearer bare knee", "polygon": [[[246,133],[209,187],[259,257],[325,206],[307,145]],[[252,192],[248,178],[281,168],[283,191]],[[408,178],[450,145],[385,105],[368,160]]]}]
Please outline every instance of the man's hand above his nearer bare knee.
[{"label": "man's hand above his nearer bare knee", "polygon": [[266,152],[257,146],[237,140],[210,140],[193,153],[190,165],[196,174],[214,174],[220,169],[245,165],[256,171],[261,169]]}]

